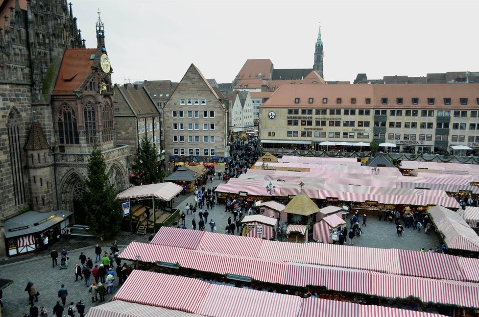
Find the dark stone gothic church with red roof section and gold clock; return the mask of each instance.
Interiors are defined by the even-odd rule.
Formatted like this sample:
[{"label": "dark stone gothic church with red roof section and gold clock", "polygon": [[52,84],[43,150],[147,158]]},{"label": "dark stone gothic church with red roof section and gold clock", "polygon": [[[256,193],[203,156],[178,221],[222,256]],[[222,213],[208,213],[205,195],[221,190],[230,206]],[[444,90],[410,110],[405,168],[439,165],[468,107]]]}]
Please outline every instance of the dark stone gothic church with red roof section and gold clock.
[{"label": "dark stone gothic church with red roof section and gold clock", "polygon": [[3,256],[12,254],[8,250],[34,250],[40,234],[51,234],[52,227],[35,227],[28,236],[20,237],[18,230],[20,238],[5,241],[5,221],[26,210],[74,211],[74,220],[84,221],[79,201],[95,143],[105,155],[110,182],[124,189],[127,146],[115,140],[111,66],[101,20],[96,49],[85,49],[72,5],[65,0],[7,0],[0,14]]}]

